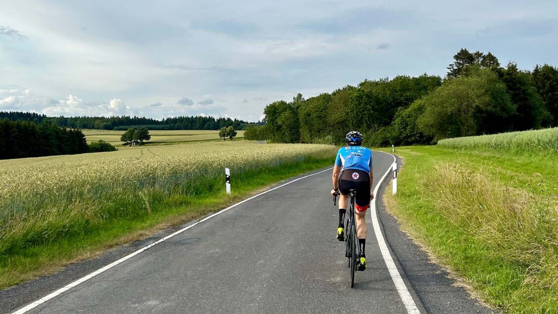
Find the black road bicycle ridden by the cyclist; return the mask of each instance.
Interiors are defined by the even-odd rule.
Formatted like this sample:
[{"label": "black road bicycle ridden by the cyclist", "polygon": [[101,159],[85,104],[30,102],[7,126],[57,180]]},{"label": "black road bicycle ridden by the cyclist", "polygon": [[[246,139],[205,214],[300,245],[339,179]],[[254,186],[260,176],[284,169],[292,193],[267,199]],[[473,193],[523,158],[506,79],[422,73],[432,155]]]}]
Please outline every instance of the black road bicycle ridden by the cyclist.
[{"label": "black road bicycle ridden by the cyclist", "polygon": [[[335,193],[333,196],[333,206],[337,205],[337,196],[339,193]],[[345,257],[348,260],[348,267],[350,269],[350,287],[354,286],[354,273],[357,271],[357,260],[360,259],[360,250],[358,249],[358,238],[357,238],[357,225],[354,219],[354,205],[355,197],[357,196],[357,190],[349,190],[349,208],[347,209],[347,223],[345,224]],[[348,230],[348,232],[347,232]]]}]

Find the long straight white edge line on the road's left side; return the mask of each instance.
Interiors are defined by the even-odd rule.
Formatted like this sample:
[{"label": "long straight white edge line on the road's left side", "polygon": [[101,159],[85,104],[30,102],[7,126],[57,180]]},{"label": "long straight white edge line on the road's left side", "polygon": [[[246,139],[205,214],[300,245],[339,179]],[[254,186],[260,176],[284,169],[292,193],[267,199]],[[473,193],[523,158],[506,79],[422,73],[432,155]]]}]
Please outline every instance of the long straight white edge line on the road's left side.
[{"label": "long straight white edge line on the road's left side", "polygon": [[232,208],[234,208],[234,207],[236,207],[236,206],[238,206],[238,205],[240,205],[240,204],[243,204],[243,203],[245,203],[245,202],[247,202],[247,201],[249,201],[249,200],[255,199],[256,197],[262,196],[262,195],[264,195],[264,194],[266,194],[266,193],[268,193],[268,192],[271,192],[271,191],[273,191],[273,190],[280,189],[281,187],[286,186],[286,185],[289,185],[289,184],[291,184],[291,183],[293,183],[293,182],[302,180],[302,179],[307,178],[307,177],[319,175],[320,173],[329,171],[329,170],[331,170],[331,169],[333,169],[333,167],[332,167],[332,168],[328,168],[328,169],[326,169],[326,170],[324,170],[324,171],[312,173],[311,175],[307,175],[307,176],[304,176],[304,177],[301,177],[301,178],[297,178],[297,179],[292,180],[292,181],[289,181],[289,182],[287,182],[287,183],[285,183],[285,184],[283,184],[283,185],[274,187],[273,189],[270,189],[270,190],[261,192],[260,194],[254,195],[254,196],[252,196],[252,197],[248,197],[248,199],[243,200],[243,201],[240,201],[240,202],[238,202],[237,204],[230,205],[229,207],[227,207],[227,208],[225,208],[225,209],[222,209],[222,210],[220,210],[220,211],[218,211],[218,212],[215,212],[215,214],[212,214],[212,215],[210,215],[210,216],[207,216],[206,218],[201,219],[200,221],[196,221],[195,223],[193,223],[193,224],[191,224],[191,225],[189,225],[189,226],[187,226],[187,227],[185,227],[185,228],[183,228],[183,229],[180,229],[180,230],[176,231],[176,232],[173,233],[173,234],[170,234],[170,235],[165,236],[165,238],[162,238],[162,239],[160,239],[160,240],[157,240],[156,242],[153,242],[153,243],[151,243],[150,245],[146,245],[145,247],[143,247],[143,248],[141,248],[141,249],[139,249],[139,250],[137,250],[137,251],[134,251],[133,253],[130,253],[130,254],[126,255],[125,257],[123,257],[123,258],[117,260],[116,262],[112,262],[112,263],[106,265],[106,266],[103,267],[103,268],[97,269],[97,270],[95,270],[94,272],[92,272],[92,273],[90,273],[90,274],[88,274],[88,275],[86,275],[86,276],[84,276],[84,277],[81,277],[81,278],[79,278],[78,280],[76,280],[76,281],[74,281],[74,282],[68,284],[67,286],[62,287],[62,288],[56,290],[55,292],[52,292],[51,294],[49,294],[49,295],[47,295],[47,296],[45,296],[45,297],[42,297],[42,298],[38,299],[37,301],[35,301],[35,302],[33,302],[33,303],[30,303],[29,305],[27,305],[27,306],[25,306],[25,307],[20,308],[20,310],[17,310],[17,311],[15,311],[15,312],[13,312],[12,314],[21,314],[21,313],[25,313],[25,312],[27,312],[27,311],[29,311],[29,310],[32,310],[33,308],[35,308],[35,307],[41,305],[42,303],[45,303],[46,301],[49,301],[50,299],[52,299],[52,298],[54,298],[54,297],[56,297],[56,296],[59,296],[61,293],[64,293],[64,292],[68,291],[69,289],[71,289],[71,288],[73,288],[73,287],[75,287],[75,286],[78,286],[78,284],[80,284],[80,283],[82,283],[82,282],[85,282],[85,281],[88,281],[89,279],[91,279],[91,278],[97,276],[98,274],[103,273],[105,270],[108,270],[108,269],[110,269],[110,268],[113,268],[114,266],[116,266],[116,265],[118,265],[118,264],[124,262],[125,260],[128,260],[128,259],[130,259],[130,258],[136,256],[137,254],[142,253],[143,251],[147,250],[148,248],[154,247],[155,245],[161,243],[162,241],[168,240],[168,239],[172,238],[173,236],[175,236],[175,235],[177,235],[177,234],[180,234],[180,233],[182,233],[182,232],[184,232],[184,231],[186,231],[186,230],[192,228],[193,226],[195,226],[195,225],[197,225],[197,224],[200,224],[200,223],[203,223],[204,221],[206,221],[206,220],[208,220],[208,219],[211,219],[211,218],[213,218],[213,217],[215,217],[215,216],[217,216],[217,215],[219,215],[219,214],[222,214],[223,212],[225,212],[225,211],[227,211],[227,210],[229,210],[229,209],[232,209]]}]

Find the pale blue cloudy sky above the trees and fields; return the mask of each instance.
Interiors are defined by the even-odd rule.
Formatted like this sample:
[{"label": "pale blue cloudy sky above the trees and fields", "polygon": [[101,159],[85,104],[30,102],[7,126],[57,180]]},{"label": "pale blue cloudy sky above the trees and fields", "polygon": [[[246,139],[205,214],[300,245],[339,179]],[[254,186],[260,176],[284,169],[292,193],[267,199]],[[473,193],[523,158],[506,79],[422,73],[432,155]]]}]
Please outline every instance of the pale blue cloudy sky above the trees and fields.
[{"label": "pale blue cloudy sky above the trees and fields", "polygon": [[0,111],[257,121],[461,47],[558,66],[558,2],[0,0]]}]

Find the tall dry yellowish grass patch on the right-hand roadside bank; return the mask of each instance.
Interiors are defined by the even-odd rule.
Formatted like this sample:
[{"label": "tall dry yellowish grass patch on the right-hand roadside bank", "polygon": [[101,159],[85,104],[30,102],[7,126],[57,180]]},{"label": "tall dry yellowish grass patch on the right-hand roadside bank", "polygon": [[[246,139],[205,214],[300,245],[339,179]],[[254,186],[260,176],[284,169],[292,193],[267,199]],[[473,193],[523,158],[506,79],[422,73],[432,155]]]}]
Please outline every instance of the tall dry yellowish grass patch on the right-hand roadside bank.
[{"label": "tall dry yellowish grass patch on the right-hand roadside bank", "polygon": [[[558,311],[558,202],[497,183],[482,169],[440,163],[423,180],[436,210],[461,233],[492,250],[503,263],[515,265],[528,287],[508,297],[513,303],[538,304],[535,312]],[[526,311],[522,308],[519,312]],[[539,311],[540,310],[540,311]],[[515,311],[514,311],[515,312]]]}]

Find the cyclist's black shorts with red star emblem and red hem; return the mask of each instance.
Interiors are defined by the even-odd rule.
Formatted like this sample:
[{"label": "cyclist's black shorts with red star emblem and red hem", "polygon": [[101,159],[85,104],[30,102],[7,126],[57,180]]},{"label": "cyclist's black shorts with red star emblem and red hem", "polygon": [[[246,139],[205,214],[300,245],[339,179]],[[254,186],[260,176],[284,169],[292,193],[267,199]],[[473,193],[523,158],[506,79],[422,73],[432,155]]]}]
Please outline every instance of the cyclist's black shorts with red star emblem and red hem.
[{"label": "cyclist's black shorts with red star emblem and red hem", "polygon": [[357,190],[356,210],[365,211],[370,206],[370,175],[366,171],[344,169],[339,176],[339,192],[348,195],[349,190]]}]

